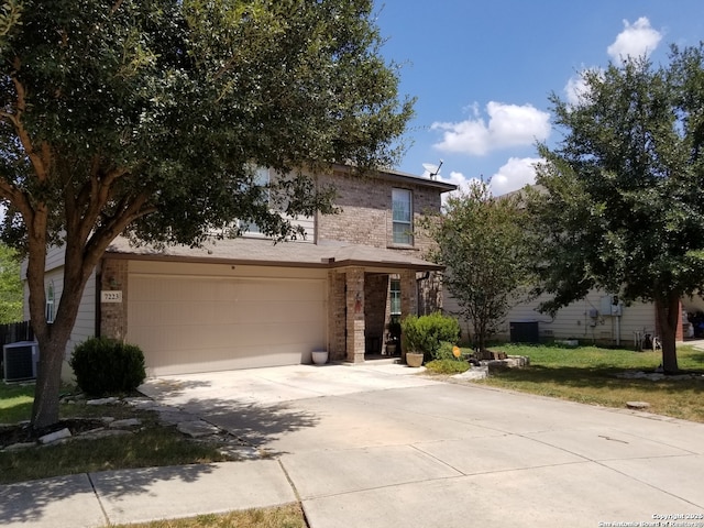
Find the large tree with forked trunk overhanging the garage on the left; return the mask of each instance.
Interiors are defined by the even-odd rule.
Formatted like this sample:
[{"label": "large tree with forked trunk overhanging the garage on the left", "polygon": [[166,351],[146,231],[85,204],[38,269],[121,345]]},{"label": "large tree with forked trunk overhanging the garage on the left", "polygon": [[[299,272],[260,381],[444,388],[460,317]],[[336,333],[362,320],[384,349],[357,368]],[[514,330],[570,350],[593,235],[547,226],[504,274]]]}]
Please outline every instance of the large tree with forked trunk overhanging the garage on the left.
[{"label": "large tree with forked trunk overhanging the garage on the left", "polygon": [[[2,2],[0,198],[4,239],[28,255],[42,350],[34,427],[58,419],[79,299],[117,235],[198,244],[213,229],[239,234],[239,219],[282,239],[296,231],[288,219],[332,211],[331,189],[304,167],[394,164],[413,101],[398,97],[371,10],[370,0]],[[280,177],[262,188],[257,166]],[[66,258],[48,324],[52,243]]]}]

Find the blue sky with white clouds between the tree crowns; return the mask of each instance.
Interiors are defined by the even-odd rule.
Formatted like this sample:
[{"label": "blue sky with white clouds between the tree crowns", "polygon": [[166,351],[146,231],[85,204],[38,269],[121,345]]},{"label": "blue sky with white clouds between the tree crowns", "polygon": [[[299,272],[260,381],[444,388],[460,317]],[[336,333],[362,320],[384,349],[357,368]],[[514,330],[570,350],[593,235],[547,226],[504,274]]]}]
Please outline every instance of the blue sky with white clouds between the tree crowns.
[{"label": "blue sky with white clouds between the tree crowns", "polygon": [[569,100],[579,73],[626,55],[667,64],[670,44],[704,41],[702,0],[376,0],[383,55],[417,97],[396,168],[494,195],[532,183],[536,141],[553,145],[548,97]]}]

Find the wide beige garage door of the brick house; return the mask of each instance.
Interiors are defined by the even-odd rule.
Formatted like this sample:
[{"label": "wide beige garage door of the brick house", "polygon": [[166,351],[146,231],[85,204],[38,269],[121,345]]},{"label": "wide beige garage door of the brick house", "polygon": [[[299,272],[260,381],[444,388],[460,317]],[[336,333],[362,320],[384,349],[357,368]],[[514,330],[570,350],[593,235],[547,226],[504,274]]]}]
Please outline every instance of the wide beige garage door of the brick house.
[{"label": "wide beige garage door of the brick house", "polygon": [[324,299],[321,279],[130,275],[128,341],[153,376],[307,363]]}]

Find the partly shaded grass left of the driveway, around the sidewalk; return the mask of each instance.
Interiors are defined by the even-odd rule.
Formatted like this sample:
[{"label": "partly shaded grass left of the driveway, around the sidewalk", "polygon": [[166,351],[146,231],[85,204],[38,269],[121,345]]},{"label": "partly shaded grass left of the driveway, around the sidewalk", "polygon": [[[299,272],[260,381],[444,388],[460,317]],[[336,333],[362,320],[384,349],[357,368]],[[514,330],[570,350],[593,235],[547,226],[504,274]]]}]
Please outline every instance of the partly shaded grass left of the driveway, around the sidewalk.
[{"label": "partly shaded grass left of the driveway, around the sidewalk", "polygon": [[[67,388],[69,389],[69,388]],[[34,384],[0,382],[0,424],[29,420],[34,400]],[[102,417],[143,420],[140,432],[101,440],[75,440],[65,444],[0,452],[0,485],[35,479],[125,468],[148,468],[210,463],[227,460],[217,446],[206,446],[184,437],[175,427],[165,427],[150,411],[128,405],[87,406],[63,404],[62,418]],[[160,520],[124,528],[305,528],[299,504],[256,508],[187,519]],[[118,527],[114,527],[118,528]]]}]

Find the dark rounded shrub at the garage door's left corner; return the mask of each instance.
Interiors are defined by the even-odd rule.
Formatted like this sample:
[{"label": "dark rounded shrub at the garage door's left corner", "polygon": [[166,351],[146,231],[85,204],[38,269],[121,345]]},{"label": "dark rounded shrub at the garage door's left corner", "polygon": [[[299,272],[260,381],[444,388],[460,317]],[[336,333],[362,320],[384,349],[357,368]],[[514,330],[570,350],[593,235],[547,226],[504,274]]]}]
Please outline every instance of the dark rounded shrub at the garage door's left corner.
[{"label": "dark rounded shrub at the garage door's left corner", "polygon": [[114,339],[84,341],[74,349],[69,364],[76,383],[90,396],[130,393],[146,377],[142,350]]}]

